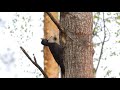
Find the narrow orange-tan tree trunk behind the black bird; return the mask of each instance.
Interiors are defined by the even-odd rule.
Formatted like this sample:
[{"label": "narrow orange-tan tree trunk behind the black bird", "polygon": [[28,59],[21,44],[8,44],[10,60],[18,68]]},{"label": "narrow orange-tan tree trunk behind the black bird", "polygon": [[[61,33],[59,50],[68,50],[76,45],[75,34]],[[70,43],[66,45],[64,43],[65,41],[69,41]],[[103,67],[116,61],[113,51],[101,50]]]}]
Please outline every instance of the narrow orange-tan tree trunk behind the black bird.
[{"label": "narrow orange-tan tree trunk behind the black bird", "polygon": [[[58,13],[51,12],[51,14],[58,20]],[[51,36],[56,36],[58,38],[59,31],[56,25],[51,21],[49,16],[44,14],[44,38],[50,38]],[[58,39],[57,39],[58,40]],[[55,62],[48,47],[44,47],[44,71],[49,78],[58,78],[59,68]]]}]

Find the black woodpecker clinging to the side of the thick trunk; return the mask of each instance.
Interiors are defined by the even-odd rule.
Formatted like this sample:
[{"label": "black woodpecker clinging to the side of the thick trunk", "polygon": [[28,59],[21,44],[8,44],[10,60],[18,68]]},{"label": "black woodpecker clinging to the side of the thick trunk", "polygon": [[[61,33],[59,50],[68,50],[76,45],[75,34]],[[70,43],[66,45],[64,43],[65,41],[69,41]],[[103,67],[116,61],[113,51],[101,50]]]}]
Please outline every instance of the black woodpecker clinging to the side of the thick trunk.
[{"label": "black woodpecker clinging to the side of the thick trunk", "polygon": [[55,42],[49,42],[47,39],[42,39],[41,44],[48,46],[55,61],[61,68],[62,75],[65,74],[65,68],[63,64],[63,47]]}]

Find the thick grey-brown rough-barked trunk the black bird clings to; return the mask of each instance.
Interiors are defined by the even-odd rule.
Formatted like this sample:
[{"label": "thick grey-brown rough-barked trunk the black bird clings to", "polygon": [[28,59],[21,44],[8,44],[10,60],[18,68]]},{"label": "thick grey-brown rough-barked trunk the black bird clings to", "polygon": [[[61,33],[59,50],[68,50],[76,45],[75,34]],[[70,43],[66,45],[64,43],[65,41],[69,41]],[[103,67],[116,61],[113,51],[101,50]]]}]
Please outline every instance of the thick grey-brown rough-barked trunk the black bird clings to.
[{"label": "thick grey-brown rough-barked trunk the black bird clings to", "polygon": [[93,78],[92,12],[62,12],[65,78]]}]

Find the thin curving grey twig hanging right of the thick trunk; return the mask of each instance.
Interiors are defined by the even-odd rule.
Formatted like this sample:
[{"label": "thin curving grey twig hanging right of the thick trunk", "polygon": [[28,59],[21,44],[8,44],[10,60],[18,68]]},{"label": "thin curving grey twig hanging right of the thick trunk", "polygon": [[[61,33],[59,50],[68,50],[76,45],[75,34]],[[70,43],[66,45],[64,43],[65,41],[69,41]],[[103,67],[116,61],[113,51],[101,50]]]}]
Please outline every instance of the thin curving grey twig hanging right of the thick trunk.
[{"label": "thin curving grey twig hanging right of the thick trunk", "polygon": [[104,43],[105,43],[105,38],[106,38],[104,12],[103,12],[103,23],[104,23],[104,39],[103,39],[103,42],[102,42],[101,52],[100,52],[100,56],[99,56],[99,60],[98,60],[98,64],[97,64],[97,67],[96,67],[95,72],[97,72],[98,67],[99,67],[99,65],[100,65],[100,60],[101,60],[101,57],[102,57],[102,54],[103,54],[103,46],[104,46]]}]

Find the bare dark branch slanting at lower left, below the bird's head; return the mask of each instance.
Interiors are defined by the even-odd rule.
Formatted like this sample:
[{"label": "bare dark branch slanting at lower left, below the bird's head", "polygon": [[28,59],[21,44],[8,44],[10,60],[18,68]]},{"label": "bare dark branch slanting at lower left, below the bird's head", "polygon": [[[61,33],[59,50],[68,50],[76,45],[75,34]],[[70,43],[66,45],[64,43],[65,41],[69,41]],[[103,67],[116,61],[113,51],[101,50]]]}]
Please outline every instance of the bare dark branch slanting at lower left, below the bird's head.
[{"label": "bare dark branch slanting at lower left, below the bird's head", "polygon": [[[25,49],[20,46],[21,50],[24,52],[24,54],[28,57],[28,59],[42,72],[45,78],[48,78],[47,74],[43,71],[43,69],[37,64],[37,62],[34,62],[31,57],[28,55],[28,53],[25,51]],[[35,59],[34,59],[35,60]]]}]

